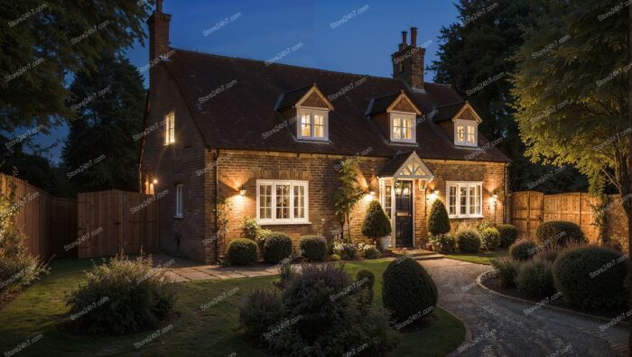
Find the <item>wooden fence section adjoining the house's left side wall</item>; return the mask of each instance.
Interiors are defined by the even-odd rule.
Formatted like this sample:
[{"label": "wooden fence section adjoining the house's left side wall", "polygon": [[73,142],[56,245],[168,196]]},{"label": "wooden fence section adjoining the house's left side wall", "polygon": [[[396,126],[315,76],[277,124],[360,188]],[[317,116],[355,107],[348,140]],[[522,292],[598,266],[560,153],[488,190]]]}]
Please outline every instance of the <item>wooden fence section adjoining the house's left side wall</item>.
[{"label": "wooden fence section adjoining the house's left side wall", "polygon": [[158,251],[158,203],[152,196],[119,190],[81,193],[77,216],[79,258]]}]

